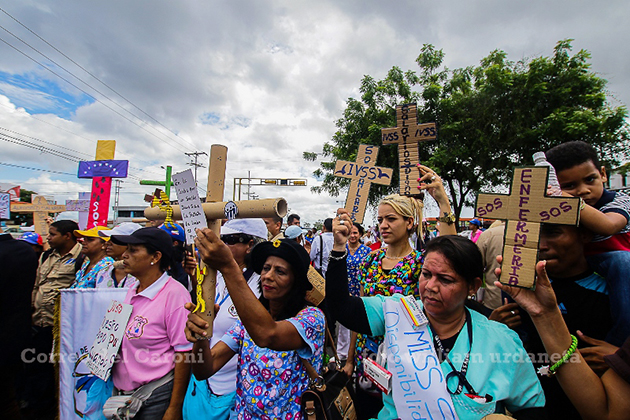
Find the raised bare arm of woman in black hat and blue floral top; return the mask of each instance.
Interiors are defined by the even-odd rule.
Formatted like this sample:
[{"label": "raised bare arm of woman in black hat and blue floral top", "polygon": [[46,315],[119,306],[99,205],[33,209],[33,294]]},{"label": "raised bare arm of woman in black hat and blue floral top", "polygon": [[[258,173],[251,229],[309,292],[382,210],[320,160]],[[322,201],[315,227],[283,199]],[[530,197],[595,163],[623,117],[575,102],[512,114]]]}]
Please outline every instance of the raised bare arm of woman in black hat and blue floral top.
[{"label": "raised bare arm of woman in black hat and blue floral top", "polygon": [[247,285],[230,249],[210,229],[197,230],[195,245],[203,261],[221,271],[243,326],[259,347],[298,350],[306,345],[289,321],[275,321]]}]

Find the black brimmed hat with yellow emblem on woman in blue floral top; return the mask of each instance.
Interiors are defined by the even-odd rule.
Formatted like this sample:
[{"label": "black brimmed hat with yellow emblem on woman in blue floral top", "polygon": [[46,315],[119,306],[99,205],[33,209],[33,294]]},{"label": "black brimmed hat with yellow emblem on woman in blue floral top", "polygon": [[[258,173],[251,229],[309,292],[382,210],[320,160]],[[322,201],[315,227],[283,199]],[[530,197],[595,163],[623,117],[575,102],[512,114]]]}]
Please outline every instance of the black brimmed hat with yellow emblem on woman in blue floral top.
[{"label": "black brimmed hat with yellow emblem on woman in blue floral top", "polygon": [[256,273],[261,273],[268,257],[280,257],[291,264],[296,281],[303,281],[306,285],[306,290],[310,290],[313,287],[307,277],[311,257],[309,257],[304,247],[295,240],[278,239],[273,242],[261,242],[252,249],[250,255],[252,268]]}]

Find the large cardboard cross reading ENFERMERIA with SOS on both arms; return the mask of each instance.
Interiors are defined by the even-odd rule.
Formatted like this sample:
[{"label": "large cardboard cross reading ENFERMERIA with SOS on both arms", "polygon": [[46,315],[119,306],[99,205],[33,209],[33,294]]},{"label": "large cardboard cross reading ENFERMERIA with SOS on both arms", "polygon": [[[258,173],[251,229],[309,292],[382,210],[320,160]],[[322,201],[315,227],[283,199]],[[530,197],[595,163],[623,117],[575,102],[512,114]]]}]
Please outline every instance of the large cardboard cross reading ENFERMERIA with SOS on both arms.
[{"label": "large cardboard cross reading ENFERMERIA with SOS on both arms", "polygon": [[534,287],[541,223],[577,225],[580,220],[579,198],[546,195],[548,170],[516,168],[510,194],[477,196],[475,216],[507,220],[499,279],[503,284]]}]

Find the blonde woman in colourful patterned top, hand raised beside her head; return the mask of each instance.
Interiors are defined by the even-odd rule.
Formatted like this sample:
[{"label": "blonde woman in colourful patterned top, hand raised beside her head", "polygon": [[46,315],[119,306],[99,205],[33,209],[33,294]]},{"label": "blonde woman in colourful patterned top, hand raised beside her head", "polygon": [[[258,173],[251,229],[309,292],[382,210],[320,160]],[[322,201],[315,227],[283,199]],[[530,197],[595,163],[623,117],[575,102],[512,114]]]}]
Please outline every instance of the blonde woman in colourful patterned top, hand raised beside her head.
[{"label": "blonde woman in colourful patterned top, hand raised beside her head", "polygon": [[[420,191],[427,191],[440,208],[441,235],[456,234],[451,204],[442,179],[430,168],[418,165]],[[419,191],[419,192],[420,192]],[[392,194],[384,197],[378,206],[378,227],[383,247],[370,253],[359,271],[359,282],[364,296],[391,296],[418,294],[418,279],[422,268],[421,252],[412,246],[412,235],[422,237],[422,199]],[[350,374],[352,365],[357,369],[357,404],[359,418],[376,417],[382,408],[381,393],[363,376],[362,361],[374,358],[383,337],[357,335],[355,348],[348,351],[345,371]],[[354,359],[354,360],[353,360]],[[353,363],[354,362],[354,363]]]}]

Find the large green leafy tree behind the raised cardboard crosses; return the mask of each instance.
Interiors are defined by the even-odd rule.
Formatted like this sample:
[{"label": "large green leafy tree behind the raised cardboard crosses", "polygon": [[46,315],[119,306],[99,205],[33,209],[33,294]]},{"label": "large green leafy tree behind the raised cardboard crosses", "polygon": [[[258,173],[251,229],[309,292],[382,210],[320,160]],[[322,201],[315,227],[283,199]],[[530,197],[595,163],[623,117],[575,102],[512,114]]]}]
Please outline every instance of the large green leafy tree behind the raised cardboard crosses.
[{"label": "large green leafy tree behind the raised cardboard crosses", "polygon": [[[500,50],[477,67],[449,70],[444,53],[424,45],[419,70],[392,67],[383,80],[364,76],[361,98],[350,98],[337,132],[323,147],[313,191],[338,195],[349,180],[333,175],[337,159],[354,160],[359,144],[381,145],[381,128],[396,125],[397,104],[418,104],[419,122],[435,121],[438,139],[420,146],[420,160],[443,178],[459,215],[477,193],[509,185],[512,168],[532,164],[531,155],[568,140],[593,144],[608,165],[627,158],[630,131],[624,106],[607,102],[606,80],[590,69],[590,54],[571,55],[571,40],[556,44],[551,57],[512,62]],[[315,153],[304,153],[315,160]],[[381,147],[377,165],[398,167],[394,146]],[[398,189],[373,186],[369,202]]]}]

